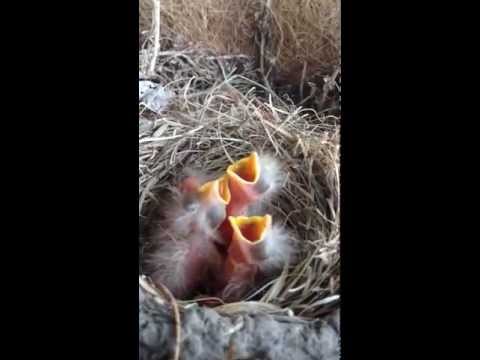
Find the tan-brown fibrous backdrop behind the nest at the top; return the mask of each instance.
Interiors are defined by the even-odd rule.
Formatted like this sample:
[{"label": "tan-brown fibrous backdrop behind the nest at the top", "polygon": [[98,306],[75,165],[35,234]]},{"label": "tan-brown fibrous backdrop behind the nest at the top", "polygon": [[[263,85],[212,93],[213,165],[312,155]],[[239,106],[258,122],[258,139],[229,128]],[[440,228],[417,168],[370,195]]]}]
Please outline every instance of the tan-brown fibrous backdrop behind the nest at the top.
[{"label": "tan-brown fibrous backdrop behind the nest at the top", "polygon": [[[259,30],[264,7],[271,20]],[[340,66],[340,0],[161,0],[160,8],[164,45],[254,56],[261,31],[272,39],[280,82],[298,84]],[[151,16],[152,0],[140,0],[141,30],[150,30]]]}]

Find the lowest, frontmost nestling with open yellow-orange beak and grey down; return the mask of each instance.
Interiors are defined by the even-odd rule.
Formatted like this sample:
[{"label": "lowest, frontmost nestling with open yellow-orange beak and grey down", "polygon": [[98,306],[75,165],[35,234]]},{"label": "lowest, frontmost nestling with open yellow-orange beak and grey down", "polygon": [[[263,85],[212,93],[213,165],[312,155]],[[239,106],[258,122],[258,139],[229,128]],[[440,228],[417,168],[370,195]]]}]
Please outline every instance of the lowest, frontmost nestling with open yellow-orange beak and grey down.
[{"label": "lowest, frontmost nestling with open yellow-orange beak and grey down", "polygon": [[294,255],[286,231],[272,217],[230,216],[232,238],[222,272],[222,298],[240,299],[258,280],[280,270]]}]

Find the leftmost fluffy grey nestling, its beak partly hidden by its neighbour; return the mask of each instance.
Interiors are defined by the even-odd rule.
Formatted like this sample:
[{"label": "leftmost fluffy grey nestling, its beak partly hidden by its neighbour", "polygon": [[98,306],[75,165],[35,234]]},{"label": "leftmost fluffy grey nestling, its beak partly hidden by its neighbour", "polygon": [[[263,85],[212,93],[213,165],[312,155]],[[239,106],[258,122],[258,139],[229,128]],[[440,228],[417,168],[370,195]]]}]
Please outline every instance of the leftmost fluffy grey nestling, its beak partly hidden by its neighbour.
[{"label": "leftmost fluffy grey nestling, its beak partly hidden by its neighbour", "polygon": [[220,271],[222,258],[215,241],[229,201],[224,177],[203,185],[196,177],[182,182],[166,209],[164,225],[156,233],[158,246],[151,258],[155,269],[150,274],[155,283],[185,299],[208,283],[212,273]]}]

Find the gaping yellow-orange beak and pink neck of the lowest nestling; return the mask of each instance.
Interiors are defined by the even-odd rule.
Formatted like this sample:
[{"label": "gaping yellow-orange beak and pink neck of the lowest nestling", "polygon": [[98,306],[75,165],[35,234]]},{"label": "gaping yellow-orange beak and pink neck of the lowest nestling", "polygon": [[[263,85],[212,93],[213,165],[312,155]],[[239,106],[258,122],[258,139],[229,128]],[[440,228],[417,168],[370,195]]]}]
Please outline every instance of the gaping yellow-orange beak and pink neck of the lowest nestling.
[{"label": "gaping yellow-orange beak and pink neck of the lowest nestling", "polygon": [[229,216],[232,239],[228,247],[225,276],[229,279],[238,266],[252,265],[266,256],[265,235],[272,226],[272,217]]}]

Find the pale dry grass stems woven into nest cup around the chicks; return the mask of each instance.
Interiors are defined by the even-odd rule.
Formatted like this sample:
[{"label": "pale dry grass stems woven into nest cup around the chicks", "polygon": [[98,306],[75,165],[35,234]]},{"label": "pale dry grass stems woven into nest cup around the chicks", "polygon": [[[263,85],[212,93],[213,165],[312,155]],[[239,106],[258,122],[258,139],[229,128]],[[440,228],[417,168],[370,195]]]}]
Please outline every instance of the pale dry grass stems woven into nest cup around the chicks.
[{"label": "pale dry grass stems woven into nest cup around the chicks", "polygon": [[[141,69],[148,68],[149,54],[141,54]],[[305,317],[327,311],[339,291],[339,119],[263,87],[248,57],[160,51],[155,69],[151,80],[174,97],[160,114],[139,107],[146,124],[139,135],[141,220],[161,206],[160,194],[171,190],[185,167],[218,173],[252,150],[275,154],[288,176],[269,211],[298,240],[301,261],[242,302],[216,309]],[[141,244],[141,255],[148,245]],[[191,302],[199,300],[178,303]]]}]

